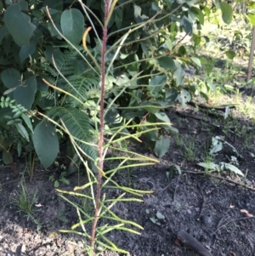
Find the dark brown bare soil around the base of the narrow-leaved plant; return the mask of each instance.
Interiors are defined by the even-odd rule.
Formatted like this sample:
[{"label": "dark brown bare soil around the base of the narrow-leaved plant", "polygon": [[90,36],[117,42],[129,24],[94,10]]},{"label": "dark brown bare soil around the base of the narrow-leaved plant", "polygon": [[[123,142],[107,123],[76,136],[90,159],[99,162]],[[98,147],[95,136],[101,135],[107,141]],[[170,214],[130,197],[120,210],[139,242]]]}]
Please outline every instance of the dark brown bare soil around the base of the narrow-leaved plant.
[{"label": "dark brown bare soil around the base of the narrow-leaved plant", "polygon": [[[169,111],[173,126],[179,130],[178,138],[183,139],[186,145],[191,142],[194,144],[194,159],[187,159],[184,146],[179,145],[178,139],[173,136],[171,147],[159,164],[116,174],[116,181],[122,185],[154,191],[153,194],[144,196],[144,202],[122,202],[113,208],[123,219],[133,220],[144,227],[140,236],[122,231],[109,234],[109,238],[118,247],[126,249],[129,255],[199,255],[193,249],[180,244],[177,239],[180,230],[187,231],[213,256],[255,254],[255,219],[241,213],[245,209],[248,213],[255,214],[255,196],[252,191],[255,180],[255,128],[249,120],[229,117],[227,120],[231,122],[224,121],[223,117],[218,117],[219,112],[210,115],[207,112],[205,116],[196,112],[192,106],[184,111]],[[245,130],[239,134],[241,128]],[[216,135],[224,135],[226,141],[235,146],[241,155],[238,168],[246,174],[246,179],[225,171],[220,174],[221,179],[217,178],[218,173],[212,173],[214,177],[201,174],[204,170],[195,164],[203,162],[212,136]],[[250,140],[245,144],[247,136]],[[147,156],[155,157],[144,148],[140,145],[136,147],[137,151],[144,151]],[[229,162],[231,156],[233,152],[225,148],[218,152],[213,162]],[[178,164],[182,169],[181,176],[173,171],[173,164]],[[19,166],[18,161],[16,165]],[[20,163],[19,168],[22,172],[25,167]],[[173,174],[169,180],[167,172]],[[71,225],[77,223],[76,209],[57,195],[53,183],[48,180],[50,174],[39,173],[37,168],[35,178],[26,182],[26,188],[31,195],[38,191],[32,218],[28,218],[25,213],[18,213],[14,204],[14,199],[20,193],[20,183],[6,184],[15,178],[11,169],[1,169],[0,180],[3,187],[0,198],[0,255],[86,255],[81,247],[71,244],[77,242],[82,245],[84,236],[58,232],[59,229],[70,229]],[[73,174],[69,180],[70,185],[61,184],[60,188],[72,191],[78,180],[80,184],[86,182],[86,176],[82,174],[78,179],[78,175]],[[231,181],[243,185],[235,185]],[[246,185],[251,189],[246,188]],[[117,192],[108,191],[107,196],[115,196],[114,193]],[[71,200],[77,202],[77,199]],[[91,210],[89,205],[87,210]],[[156,219],[155,224],[152,220],[156,218],[156,213],[161,213],[165,219]],[[121,254],[106,251],[101,255]]]}]

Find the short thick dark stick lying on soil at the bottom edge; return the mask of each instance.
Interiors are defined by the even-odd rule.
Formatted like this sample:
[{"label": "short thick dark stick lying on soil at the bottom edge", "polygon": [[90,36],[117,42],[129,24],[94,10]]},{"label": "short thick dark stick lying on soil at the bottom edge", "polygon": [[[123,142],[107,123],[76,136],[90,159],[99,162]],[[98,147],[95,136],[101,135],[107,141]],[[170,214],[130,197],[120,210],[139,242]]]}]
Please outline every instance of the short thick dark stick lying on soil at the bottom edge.
[{"label": "short thick dark stick lying on soil at the bottom edge", "polygon": [[186,231],[180,230],[177,238],[180,242],[184,243],[184,245],[193,249],[195,253],[201,256],[212,256],[212,253],[210,253],[206,247],[198,242],[193,236],[190,236]]}]

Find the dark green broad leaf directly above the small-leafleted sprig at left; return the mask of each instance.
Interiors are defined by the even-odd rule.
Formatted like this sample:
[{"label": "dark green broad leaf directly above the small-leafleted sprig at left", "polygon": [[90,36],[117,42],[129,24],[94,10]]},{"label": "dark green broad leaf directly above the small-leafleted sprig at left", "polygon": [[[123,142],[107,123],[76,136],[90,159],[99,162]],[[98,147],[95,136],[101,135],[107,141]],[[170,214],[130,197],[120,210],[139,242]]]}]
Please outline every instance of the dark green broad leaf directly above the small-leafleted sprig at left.
[{"label": "dark green broad leaf directly above the small-leafleted sprig at left", "polygon": [[14,100],[17,104],[24,106],[27,110],[31,110],[31,105],[35,100],[37,93],[37,79],[36,77],[29,77],[14,90]]}]

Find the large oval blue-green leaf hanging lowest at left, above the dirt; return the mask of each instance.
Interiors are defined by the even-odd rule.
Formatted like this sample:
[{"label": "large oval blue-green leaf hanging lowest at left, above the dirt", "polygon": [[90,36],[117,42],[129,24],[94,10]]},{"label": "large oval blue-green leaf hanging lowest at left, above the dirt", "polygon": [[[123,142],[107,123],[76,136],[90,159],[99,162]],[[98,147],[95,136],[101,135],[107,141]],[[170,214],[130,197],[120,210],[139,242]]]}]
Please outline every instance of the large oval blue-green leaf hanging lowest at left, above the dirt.
[{"label": "large oval blue-green leaf hanging lowest at left, above the dirt", "polygon": [[37,124],[32,136],[37,156],[44,168],[48,168],[54,163],[59,153],[59,139],[54,126],[47,121]]}]

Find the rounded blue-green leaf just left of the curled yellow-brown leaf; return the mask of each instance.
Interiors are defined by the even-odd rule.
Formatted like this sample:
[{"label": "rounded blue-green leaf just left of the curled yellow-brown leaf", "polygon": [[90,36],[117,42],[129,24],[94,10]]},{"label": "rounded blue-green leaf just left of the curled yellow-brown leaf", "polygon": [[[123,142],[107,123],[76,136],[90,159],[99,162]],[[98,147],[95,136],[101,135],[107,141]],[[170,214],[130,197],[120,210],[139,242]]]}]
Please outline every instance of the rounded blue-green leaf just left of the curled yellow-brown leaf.
[{"label": "rounded blue-green leaf just left of the curled yellow-brown leaf", "polygon": [[84,32],[84,17],[78,9],[67,9],[60,20],[63,35],[73,44],[79,44]]}]

